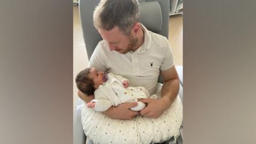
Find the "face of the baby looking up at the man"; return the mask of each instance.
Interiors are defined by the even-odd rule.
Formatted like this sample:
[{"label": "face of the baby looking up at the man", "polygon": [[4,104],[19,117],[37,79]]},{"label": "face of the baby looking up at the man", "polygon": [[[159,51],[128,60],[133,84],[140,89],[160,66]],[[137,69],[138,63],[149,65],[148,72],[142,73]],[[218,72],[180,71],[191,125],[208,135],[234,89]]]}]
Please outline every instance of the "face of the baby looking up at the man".
[{"label": "face of the baby looking up at the man", "polygon": [[106,74],[103,71],[98,71],[95,68],[90,69],[90,74],[88,76],[93,79],[96,89],[98,89],[99,85],[107,81]]}]

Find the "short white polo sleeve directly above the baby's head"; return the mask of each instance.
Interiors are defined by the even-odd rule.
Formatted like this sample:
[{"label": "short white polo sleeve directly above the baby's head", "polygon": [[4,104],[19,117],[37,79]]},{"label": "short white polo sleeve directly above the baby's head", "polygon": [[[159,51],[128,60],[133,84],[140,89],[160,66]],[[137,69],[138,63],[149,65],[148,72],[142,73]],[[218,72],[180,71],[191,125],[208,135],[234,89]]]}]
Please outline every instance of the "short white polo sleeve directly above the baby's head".
[{"label": "short white polo sleeve directly above the baby's head", "polygon": [[106,71],[106,55],[102,51],[101,42],[95,47],[92,57],[89,60],[88,67],[94,67],[100,71]]}]

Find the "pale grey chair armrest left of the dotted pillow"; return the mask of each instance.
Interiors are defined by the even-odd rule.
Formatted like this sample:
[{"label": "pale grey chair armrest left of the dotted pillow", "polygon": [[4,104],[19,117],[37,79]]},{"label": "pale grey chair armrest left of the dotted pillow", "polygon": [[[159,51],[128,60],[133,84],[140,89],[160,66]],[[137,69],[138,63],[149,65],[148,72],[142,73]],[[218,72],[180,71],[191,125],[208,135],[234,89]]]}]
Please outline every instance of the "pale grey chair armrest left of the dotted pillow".
[{"label": "pale grey chair armrest left of the dotted pillow", "polygon": [[86,141],[86,136],[84,134],[81,121],[82,103],[83,101],[78,98],[73,121],[73,144],[85,144]]}]

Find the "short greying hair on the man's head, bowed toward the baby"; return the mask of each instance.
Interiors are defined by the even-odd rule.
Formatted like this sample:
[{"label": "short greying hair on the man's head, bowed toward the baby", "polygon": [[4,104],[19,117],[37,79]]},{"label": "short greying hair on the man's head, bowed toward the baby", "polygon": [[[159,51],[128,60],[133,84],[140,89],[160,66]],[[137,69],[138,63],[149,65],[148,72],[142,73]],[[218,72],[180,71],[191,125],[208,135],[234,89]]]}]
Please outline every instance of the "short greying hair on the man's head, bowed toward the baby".
[{"label": "short greying hair on the man's head, bowed toward the baby", "polygon": [[93,12],[96,29],[111,30],[117,26],[124,35],[130,35],[132,27],[139,21],[138,0],[101,0]]}]

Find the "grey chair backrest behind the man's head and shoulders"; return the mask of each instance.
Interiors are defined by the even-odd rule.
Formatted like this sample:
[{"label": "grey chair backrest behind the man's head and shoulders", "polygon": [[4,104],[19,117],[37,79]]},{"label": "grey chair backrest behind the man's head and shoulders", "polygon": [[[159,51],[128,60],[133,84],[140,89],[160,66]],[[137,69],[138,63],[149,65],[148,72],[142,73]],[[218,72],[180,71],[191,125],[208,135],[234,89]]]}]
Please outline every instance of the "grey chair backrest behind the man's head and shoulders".
[{"label": "grey chair backrest behind the man's head and shoulders", "polygon": [[[93,26],[93,11],[100,0],[80,0],[79,14],[88,58],[101,41],[101,36]],[[139,0],[140,22],[150,31],[168,38],[169,35],[169,0]],[[163,82],[160,78],[159,82]]]}]

